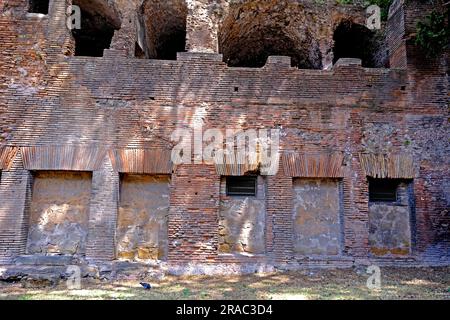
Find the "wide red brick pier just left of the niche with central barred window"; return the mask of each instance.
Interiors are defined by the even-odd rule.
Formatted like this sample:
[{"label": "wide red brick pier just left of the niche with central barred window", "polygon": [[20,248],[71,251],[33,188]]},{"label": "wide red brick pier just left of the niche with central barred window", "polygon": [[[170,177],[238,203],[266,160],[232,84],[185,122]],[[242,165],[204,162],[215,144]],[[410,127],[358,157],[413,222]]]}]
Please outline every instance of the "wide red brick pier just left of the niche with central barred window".
[{"label": "wide red brick pier just left of the niche with central barred window", "polygon": [[172,175],[170,262],[214,262],[219,230],[220,177],[214,166],[181,165]]}]

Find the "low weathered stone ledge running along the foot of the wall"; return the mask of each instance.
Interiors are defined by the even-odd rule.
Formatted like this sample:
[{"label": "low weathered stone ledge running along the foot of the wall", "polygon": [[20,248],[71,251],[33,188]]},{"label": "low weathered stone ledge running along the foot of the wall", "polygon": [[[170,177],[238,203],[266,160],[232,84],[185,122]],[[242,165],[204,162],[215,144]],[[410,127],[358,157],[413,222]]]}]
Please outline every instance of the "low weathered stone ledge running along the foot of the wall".
[{"label": "low weathered stone ledge running along the foot of the wall", "polygon": [[[222,264],[170,264],[166,262],[139,263],[113,261],[108,263],[87,263],[78,261],[63,265],[66,258],[20,257],[16,264],[0,266],[0,282],[21,282],[25,287],[48,287],[65,282],[73,275],[73,268],[79,267],[82,281],[161,281],[166,275],[243,275],[253,273],[273,273],[286,271],[311,271],[320,269],[354,269],[357,273],[365,273],[370,265],[399,268],[445,267],[446,264],[428,263],[413,257],[399,259],[354,259],[336,257],[334,260],[320,258],[298,258],[284,264],[272,263],[222,263]],[[55,264],[51,264],[52,260]],[[40,261],[41,264],[32,264]]]}]

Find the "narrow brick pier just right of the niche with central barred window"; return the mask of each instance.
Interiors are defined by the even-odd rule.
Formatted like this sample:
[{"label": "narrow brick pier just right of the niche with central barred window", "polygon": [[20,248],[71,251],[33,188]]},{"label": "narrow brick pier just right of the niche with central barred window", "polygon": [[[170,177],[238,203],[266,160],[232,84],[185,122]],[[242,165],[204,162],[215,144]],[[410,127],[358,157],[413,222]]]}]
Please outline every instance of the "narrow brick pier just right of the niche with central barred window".
[{"label": "narrow brick pier just right of the niche with central barred window", "polygon": [[284,174],[282,163],[276,176],[267,177],[266,248],[278,263],[294,255],[292,178]]}]

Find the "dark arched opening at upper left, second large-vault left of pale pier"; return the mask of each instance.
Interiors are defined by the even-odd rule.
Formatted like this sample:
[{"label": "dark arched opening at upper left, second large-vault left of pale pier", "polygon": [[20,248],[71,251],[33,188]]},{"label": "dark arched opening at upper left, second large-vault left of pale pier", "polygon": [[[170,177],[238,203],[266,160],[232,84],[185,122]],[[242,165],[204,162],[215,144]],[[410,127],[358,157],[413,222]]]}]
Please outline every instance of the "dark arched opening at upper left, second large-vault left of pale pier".
[{"label": "dark arched opening at upper left, second large-vault left of pale pier", "polygon": [[118,13],[105,1],[73,0],[81,9],[81,28],[73,29],[75,55],[101,57],[109,49],[114,31],[120,29]]}]

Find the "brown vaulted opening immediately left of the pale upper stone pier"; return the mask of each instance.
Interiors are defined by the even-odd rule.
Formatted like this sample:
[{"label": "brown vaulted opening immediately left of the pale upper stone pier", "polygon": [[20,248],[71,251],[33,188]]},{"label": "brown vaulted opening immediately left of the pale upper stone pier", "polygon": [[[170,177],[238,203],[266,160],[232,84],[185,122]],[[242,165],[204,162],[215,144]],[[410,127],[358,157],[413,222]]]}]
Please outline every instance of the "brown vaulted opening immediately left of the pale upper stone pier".
[{"label": "brown vaulted opening immediately left of the pale upper stone pier", "polygon": [[184,0],[147,0],[140,10],[142,37],[140,50],[148,59],[176,60],[177,52],[186,51]]}]

